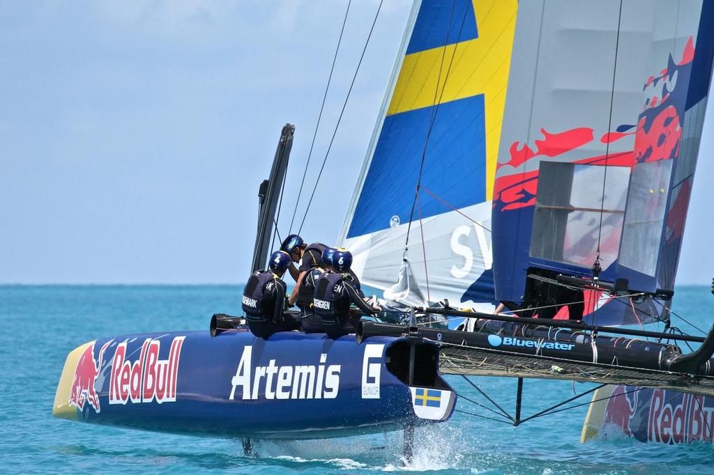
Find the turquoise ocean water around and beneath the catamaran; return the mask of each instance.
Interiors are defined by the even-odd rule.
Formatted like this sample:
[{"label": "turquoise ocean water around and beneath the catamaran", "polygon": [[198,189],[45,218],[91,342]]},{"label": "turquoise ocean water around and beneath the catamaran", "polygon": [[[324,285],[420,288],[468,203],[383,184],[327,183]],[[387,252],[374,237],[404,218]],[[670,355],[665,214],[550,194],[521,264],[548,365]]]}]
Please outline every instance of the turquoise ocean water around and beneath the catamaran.
[{"label": "turquoise ocean water around and beneath the catamaran", "polygon": [[[662,446],[613,437],[580,444],[586,407],[511,427],[455,413],[417,429],[415,458],[401,459],[402,434],[320,441],[239,441],[154,434],[78,424],[51,415],[66,354],[97,337],[208,329],[213,313],[239,312],[237,286],[0,286],[0,472],[246,474],[714,474],[711,444]],[[674,310],[712,324],[707,287],[678,288]],[[673,324],[697,334],[673,317]],[[483,402],[468,383],[459,394]],[[513,413],[516,379],[473,378]],[[523,417],[582,392],[589,384],[526,380]],[[583,399],[585,402],[585,399]],[[487,415],[461,399],[457,409]]]}]

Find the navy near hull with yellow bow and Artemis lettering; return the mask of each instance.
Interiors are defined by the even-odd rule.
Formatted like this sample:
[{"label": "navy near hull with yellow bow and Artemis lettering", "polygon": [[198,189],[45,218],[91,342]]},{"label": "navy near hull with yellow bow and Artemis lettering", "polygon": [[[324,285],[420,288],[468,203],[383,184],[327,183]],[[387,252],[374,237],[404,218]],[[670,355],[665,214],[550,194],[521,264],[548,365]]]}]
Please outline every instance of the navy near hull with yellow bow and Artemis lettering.
[{"label": "navy near hull with yellow bow and Artemis lettering", "polygon": [[258,439],[349,436],[447,420],[456,394],[438,376],[436,347],[431,380],[422,374],[421,384],[410,385],[401,371],[408,361],[396,361],[408,355],[406,345],[398,337],[356,344],[353,335],[297,332],[265,340],[246,331],[98,339],[68,355],[53,414]]}]

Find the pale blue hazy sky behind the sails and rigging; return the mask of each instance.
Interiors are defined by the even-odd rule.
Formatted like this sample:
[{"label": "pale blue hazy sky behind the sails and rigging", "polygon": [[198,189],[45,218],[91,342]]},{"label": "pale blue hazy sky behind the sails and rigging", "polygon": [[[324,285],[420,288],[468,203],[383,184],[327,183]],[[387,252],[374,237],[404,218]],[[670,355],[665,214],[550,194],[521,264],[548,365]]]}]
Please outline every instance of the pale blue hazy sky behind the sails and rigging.
[{"label": "pale blue hazy sky behind the sails and rigging", "polygon": [[[410,5],[384,3],[306,240],[337,238]],[[377,6],[351,6],[308,195]],[[278,223],[288,231],[345,9],[342,0],[0,2],[0,284],[245,282],[258,185],[293,123]],[[714,276],[711,116],[680,284]]]}]

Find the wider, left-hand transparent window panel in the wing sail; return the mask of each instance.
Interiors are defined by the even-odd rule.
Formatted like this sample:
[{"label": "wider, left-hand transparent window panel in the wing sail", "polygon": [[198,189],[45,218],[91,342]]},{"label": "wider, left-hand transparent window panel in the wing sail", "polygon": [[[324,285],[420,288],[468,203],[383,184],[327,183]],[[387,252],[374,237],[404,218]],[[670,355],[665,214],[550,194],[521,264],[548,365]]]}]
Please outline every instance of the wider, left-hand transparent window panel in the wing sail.
[{"label": "wider, left-hand transparent window panel in the wing sail", "polygon": [[531,257],[592,267],[599,238],[607,269],[618,258],[629,180],[629,167],[605,173],[600,165],[541,161]]}]

